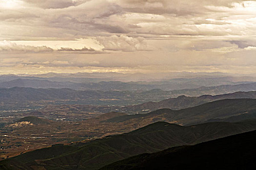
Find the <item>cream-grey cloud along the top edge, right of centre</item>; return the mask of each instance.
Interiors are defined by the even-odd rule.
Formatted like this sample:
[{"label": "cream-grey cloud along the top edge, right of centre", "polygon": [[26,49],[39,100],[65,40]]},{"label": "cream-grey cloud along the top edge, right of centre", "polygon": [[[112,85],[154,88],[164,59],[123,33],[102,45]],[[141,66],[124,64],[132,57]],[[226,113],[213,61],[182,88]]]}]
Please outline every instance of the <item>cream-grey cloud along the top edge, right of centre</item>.
[{"label": "cream-grey cloud along the top edge, right of centre", "polygon": [[205,13],[207,11],[206,6],[233,7],[235,2],[242,1],[243,0],[117,0],[117,3],[129,12],[194,16]]}]

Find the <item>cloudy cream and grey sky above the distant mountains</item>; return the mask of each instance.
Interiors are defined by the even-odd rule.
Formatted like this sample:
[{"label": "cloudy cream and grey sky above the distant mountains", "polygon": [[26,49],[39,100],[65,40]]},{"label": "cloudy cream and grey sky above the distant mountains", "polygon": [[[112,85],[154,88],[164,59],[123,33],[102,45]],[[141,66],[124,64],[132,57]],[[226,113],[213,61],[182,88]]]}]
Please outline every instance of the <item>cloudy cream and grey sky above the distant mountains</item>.
[{"label": "cloudy cream and grey sky above the distant mountains", "polygon": [[0,0],[0,74],[256,74],[255,0]]}]

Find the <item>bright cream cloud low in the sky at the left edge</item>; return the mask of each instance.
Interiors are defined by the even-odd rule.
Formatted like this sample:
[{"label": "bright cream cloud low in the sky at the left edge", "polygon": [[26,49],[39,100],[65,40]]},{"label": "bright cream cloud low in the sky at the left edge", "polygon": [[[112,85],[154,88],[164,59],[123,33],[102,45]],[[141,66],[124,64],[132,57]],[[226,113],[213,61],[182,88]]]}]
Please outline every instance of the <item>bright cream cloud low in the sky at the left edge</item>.
[{"label": "bright cream cloud low in the sky at the left edge", "polygon": [[0,51],[51,52],[53,49],[46,46],[34,47],[17,45],[16,43],[4,40],[0,42]]}]

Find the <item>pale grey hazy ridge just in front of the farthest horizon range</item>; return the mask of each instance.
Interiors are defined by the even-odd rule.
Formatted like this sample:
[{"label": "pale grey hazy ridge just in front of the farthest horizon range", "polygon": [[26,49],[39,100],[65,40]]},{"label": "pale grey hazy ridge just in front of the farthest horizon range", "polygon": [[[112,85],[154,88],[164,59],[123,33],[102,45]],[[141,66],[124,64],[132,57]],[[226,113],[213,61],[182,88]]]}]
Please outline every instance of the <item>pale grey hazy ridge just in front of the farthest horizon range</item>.
[{"label": "pale grey hazy ridge just in front of the farthest horizon range", "polygon": [[153,90],[161,89],[165,91],[192,89],[202,86],[216,86],[216,85],[238,85],[248,84],[252,82],[232,82],[232,78],[194,78],[194,79],[172,79],[169,81],[160,82],[119,82],[119,81],[102,81],[98,83],[79,83],[67,86],[75,90],[97,89],[97,90]]}]

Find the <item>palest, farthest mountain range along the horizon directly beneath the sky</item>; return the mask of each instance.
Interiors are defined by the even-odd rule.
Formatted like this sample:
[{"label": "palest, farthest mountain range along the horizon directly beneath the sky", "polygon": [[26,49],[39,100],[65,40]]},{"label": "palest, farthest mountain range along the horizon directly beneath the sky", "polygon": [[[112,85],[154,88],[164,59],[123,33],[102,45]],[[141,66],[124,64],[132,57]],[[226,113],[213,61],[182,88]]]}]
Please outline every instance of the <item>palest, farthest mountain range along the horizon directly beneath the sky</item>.
[{"label": "palest, farthest mountain range along the horizon directly beneath the sky", "polygon": [[[46,74],[7,74],[0,75],[1,80],[14,80],[17,78],[40,79],[51,81],[78,81],[90,80],[94,82],[99,81],[164,81],[170,79],[193,79],[193,78],[222,78],[229,77],[232,82],[239,81],[256,81],[254,74],[230,74],[222,72],[166,72],[166,73],[117,73],[117,72],[93,72],[93,73],[46,73]],[[11,79],[10,79],[11,78]]]}]

